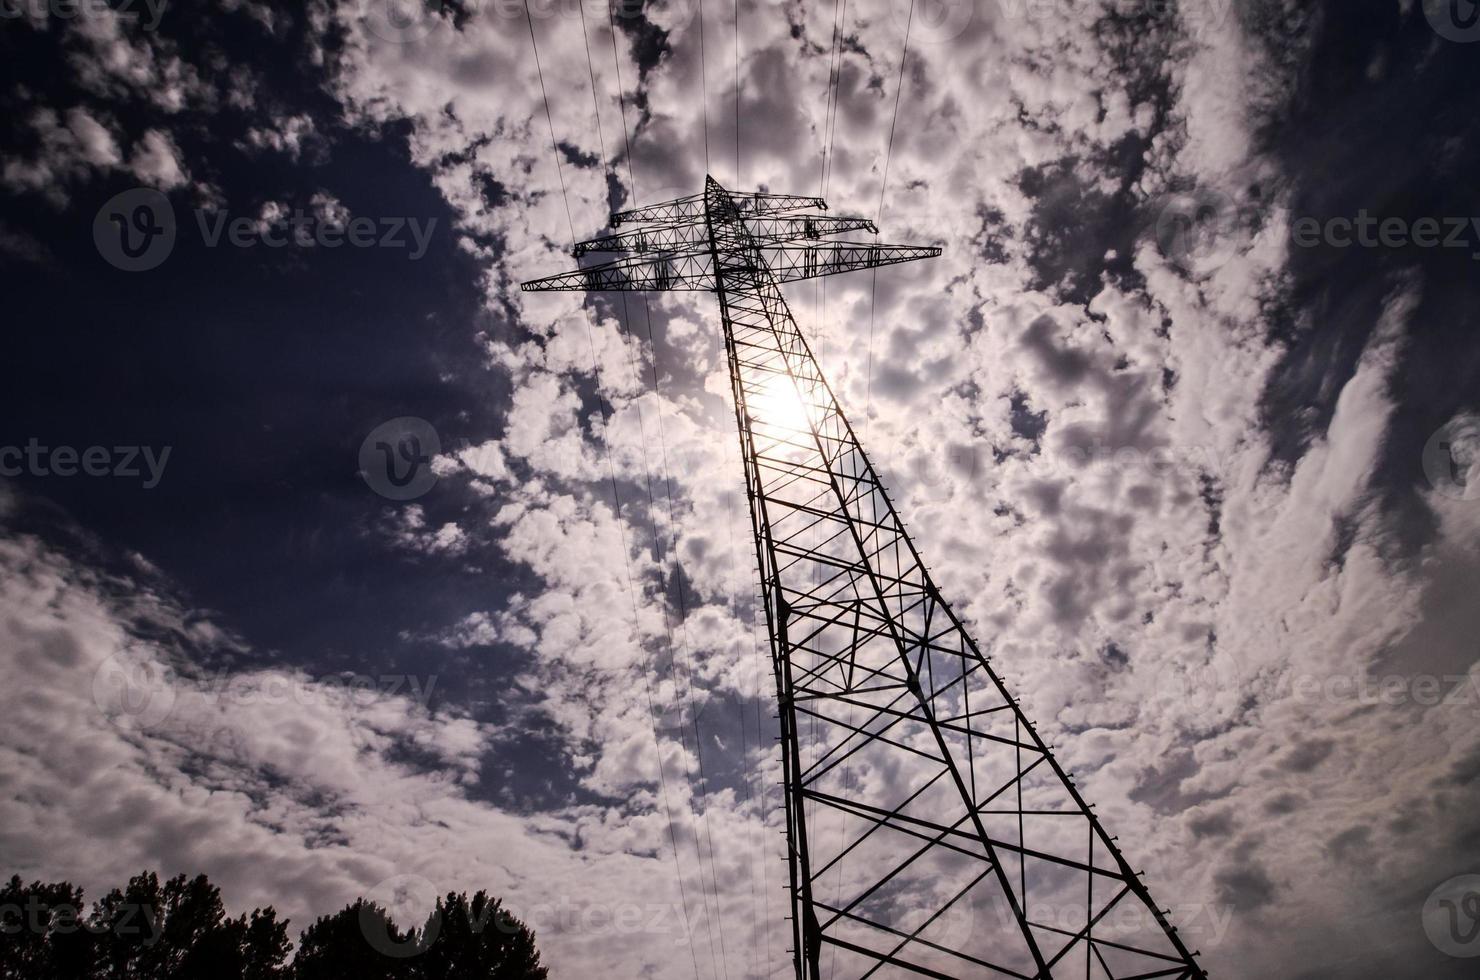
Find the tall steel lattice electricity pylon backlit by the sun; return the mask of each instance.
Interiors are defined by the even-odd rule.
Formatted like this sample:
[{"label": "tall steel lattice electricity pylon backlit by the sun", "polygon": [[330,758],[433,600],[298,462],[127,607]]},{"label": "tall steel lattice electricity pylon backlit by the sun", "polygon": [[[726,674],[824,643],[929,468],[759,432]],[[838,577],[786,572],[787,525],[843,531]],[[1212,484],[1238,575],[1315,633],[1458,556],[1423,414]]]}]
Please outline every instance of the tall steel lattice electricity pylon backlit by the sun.
[{"label": "tall steel lattice electricity pylon backlit by the sun", "polygon": [[801,980],[1205,977],[941,598],[780,283],[940,255],[815,197],[611,216],[525,290],[719,295],[771,665]]}]

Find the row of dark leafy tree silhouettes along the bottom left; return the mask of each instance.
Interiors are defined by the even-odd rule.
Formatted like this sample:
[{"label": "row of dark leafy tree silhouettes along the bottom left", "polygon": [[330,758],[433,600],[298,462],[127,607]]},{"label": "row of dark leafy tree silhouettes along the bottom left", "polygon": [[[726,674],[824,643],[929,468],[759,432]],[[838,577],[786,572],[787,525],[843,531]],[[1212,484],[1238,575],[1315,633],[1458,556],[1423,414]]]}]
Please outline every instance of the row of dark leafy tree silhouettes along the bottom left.
[{"label": "row of dark leafy tree silhouettes along the bottom left", "polygon": [[546,980],[534,934],[499,899],[448,893],[403,931],[360,899],[303,930],[289,959],[272,907],[228,918],[204,875],[129,879],[87,910],[68,882],[0,887],[0,980]]}]

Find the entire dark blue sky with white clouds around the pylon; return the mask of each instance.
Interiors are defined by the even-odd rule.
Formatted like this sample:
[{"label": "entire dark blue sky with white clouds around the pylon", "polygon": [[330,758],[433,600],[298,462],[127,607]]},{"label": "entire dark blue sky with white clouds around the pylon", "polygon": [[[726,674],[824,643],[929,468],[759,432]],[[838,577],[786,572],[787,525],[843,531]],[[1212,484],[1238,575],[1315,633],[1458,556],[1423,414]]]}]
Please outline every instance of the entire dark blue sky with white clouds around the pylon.
[{"label": "entire dark blue sky with white clouds around the pylon", "polygon": [[1209,974],[1473,976],[1467,0],[3,13],[0,872],[790,976],[713,298],[518,289],[707,173]]}]

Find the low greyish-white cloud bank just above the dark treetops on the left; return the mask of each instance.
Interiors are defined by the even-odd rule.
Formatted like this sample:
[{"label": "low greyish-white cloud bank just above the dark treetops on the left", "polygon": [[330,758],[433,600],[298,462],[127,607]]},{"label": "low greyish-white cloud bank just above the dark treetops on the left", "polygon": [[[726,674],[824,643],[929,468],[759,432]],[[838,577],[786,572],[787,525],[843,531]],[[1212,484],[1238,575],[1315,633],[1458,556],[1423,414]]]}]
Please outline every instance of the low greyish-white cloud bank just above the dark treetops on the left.
[{"label": "low greyish-white cloud bank just above the dark treetops on the left", "polygon": [[229,647],[170,640],[194,628],[167,583],[25,536],[0,543],[0,567],[12,870],[95,896],[141,867],[206,872],[231,907],[271,903],[295,928],[411,875],[506,894],[555,970],[685,976],[670,859],[648,844],[662,823],[628,813],[641,799],[500,811],[481,776],[499,737],[441,705],[435,675],[237,669]]}]

